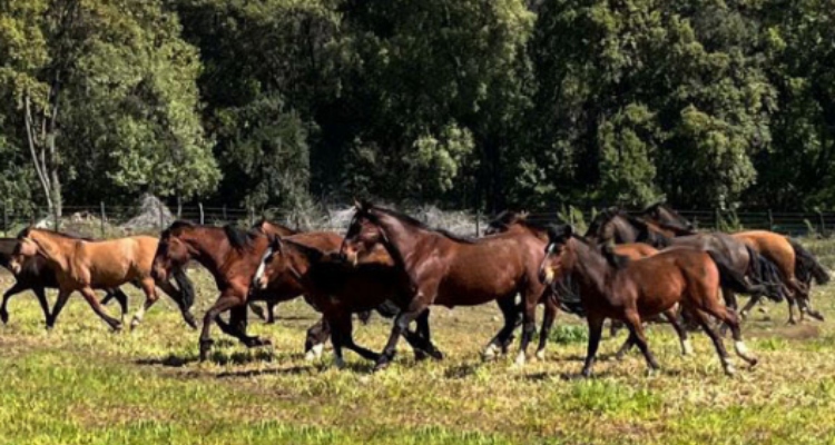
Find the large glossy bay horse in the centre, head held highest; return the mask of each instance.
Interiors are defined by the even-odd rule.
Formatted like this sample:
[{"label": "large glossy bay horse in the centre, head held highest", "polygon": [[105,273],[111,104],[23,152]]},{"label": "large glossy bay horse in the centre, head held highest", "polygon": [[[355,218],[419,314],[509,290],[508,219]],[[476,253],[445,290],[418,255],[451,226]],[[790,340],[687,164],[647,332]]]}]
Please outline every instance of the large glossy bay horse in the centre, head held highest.
[{"label": "large glossy bay horse in the centre, head held highest", "polygon": [[[340,250],[353,264],[357,253],[382,244],[405,274],[411,295],[397,315],[375,369],[394,357],[397,340],[409,324],[431,305],[474,306],[495,300],[504,326],[490,342],[485,354],[503,347],[515,328],[519,313],[514,297],[522,296],[523,333],[517,364],[525,360],[525,349],[536,329],[536,309],[544,286],[537,279],[537,259],[542,243],[532,236],[462,238],[394,210],[357,202]],[[540,251],[538,251],[540,250]]]}]

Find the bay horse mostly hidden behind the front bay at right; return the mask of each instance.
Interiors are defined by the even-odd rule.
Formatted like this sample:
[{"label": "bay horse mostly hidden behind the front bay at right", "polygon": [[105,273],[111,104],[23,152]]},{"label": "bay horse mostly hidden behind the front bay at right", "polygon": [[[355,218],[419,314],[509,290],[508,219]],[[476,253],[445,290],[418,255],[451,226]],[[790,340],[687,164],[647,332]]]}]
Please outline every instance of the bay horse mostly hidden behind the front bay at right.
[{"label": "bay horse mostly hidden behind the front bay at right", "polygon": [[[499,216],[497,216],[495,219],[493,219],[492,221],[488,224],[488,228],[484,230],[484,234],[494,235],[494,234],[514,233],[514,231],[520,233],[520,234],[529,234],[529,235],[536,236],[537,238],[543,241],[542,247],[544,247],[549,240],[547,227],[529,221],[528,214],[525,212],[515,212],[512,210],[504,210],[501,214],[499,214]],[[613,249],[617,255],[620,255],[629,259],[640,259],[640,258],[645,258],[645,257],[648,257],[658,253],[658,249],[644,243],[619,244],[619,245],[615,245]],[[544,257],[544,253],[543,253],[543,257]],[[581,306],[578,306],[578,304],[580,303],[580,297],[579,297],[579,289],[577,289],[576,283],[571,279],[567,279],[566,281],[567,283],[563,283],[560,286],[556,286],[556,285],[551,286],[554,298],[560,300],[563,304],[562,307],[566,312],[582,315],[583,310]],[[570,294],[570,295],[567,295],[567,294]],[[548,333],[550,332],[551,326],[553,325],[553,320],[557,316],[558,305],[553,304],[554,298],[546,298],[546,301],[544,301],[546,312],[542,317],[542,328],[540,329],[540,337],[539,337],[539,349],[537,350],[537,357],[540,359],[544,356]],[[687,343],[686,340],[686,334],[684,334],[681,330],[684,329],[682,326],[678,323],[677,306],[665,312],[664,317],[676,329],[676,333],[679,335],[679,338],[682,339],[681,340],[682,353],[685,355],[690,354],[692,348],[690,347],[689,343]],[[619,326],[616,325],[615,323],[611,325],[612,335],[615,335],[615,332],[618,327]],[[623,343],[623,346],[621,346],[621,348],[616,354],[616,357],[622,358],[623,355],[626,355],[626,353],[633,345],[635,343],[631,342],[631,338],[627,338],[627,340]]]}]

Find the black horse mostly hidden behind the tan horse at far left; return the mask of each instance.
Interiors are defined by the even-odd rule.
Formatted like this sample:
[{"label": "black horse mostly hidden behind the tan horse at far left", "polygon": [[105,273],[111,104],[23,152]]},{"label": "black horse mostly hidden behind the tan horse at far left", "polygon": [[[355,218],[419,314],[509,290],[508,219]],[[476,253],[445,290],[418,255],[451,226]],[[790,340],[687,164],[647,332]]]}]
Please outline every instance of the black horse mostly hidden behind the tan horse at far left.
[{"label": "black horse mostly hidden behind the tan horse at far left", "polygon": [[[12,271],[10,261],[18,243],[17,238],[0,238],[0,266],[9,269],[9,271]],[[56,278],[55,269],[47,263],[46,258],[40,255],[29,258],[23,263],[20,271],[14,275],[14,285],[3,294],[3,301],[0,304],[0,320],[3,324],[9,323],[9,312],[6,306],[12,296],[24,290],[35,293],[35,296],[38,297],[40,308],[43,310],[43,318],[49,320],[49,303],[47,301],[46,289],[57,288],[58,279]],[[107,296],[101,300],[101,304],[105,304],[110,298],[116,298],[119,301],[124,318],[128,312],[128,296],[118,287],[107,289]]]}]

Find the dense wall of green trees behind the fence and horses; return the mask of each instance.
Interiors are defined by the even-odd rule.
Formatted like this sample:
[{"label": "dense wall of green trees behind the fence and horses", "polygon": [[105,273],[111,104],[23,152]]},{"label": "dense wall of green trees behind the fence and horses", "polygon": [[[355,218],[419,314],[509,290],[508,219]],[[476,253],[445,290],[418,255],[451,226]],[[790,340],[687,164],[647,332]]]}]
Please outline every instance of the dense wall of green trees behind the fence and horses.
[{"label": "dense wall of green trees behind the fence and horses", "polygon": [[835,204],[824,0],[6,0],[0,97],[18,206]]}]

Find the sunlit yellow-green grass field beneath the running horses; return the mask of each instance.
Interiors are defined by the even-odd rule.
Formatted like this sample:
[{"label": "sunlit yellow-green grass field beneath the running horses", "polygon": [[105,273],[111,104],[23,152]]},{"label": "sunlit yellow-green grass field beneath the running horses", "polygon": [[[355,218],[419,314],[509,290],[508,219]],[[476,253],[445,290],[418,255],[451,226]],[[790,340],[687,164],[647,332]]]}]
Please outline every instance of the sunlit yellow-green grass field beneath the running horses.
[{"label": "sunlit yellow-green grass field beneath the running horses", "polygon": [[[835,243],[809,245],[835,263]],[[216,293],[207,274],[189,275],[200,314]],[[10,280],[0,276],[3,288]],[[128,291],[132,309],[140,296]],[[814,303],[835,319],[835,286],[815,288]],[[692,336],[696,355],[681,357],[672,329],[659,325],[649,340],[661,373],[648,375],[637,352],[607,358],[622,333],[601,345],[588,380],[576,377],[584,324],[564,314],[544,363],[519,369],[513,354],[480,359],[500,325],[493,306],[435,308],[433,335],[448,358],[415,364],[401,347],[394,366],[372,375],[352,353],[343,370],[330,354],[303,359],[304,329],[316,316],[301,300],[279,306],[275,326],[253,320],[272,350],[247,350],[215,328],[205,364],[196,360],[197,333],[168,301],[137,330],[116,334],[80,297],[50,333],[32,295],[9,309],[0,327],[0,444],[835,443],[835,322],[786,326],[785,305],[755,310],[744,333],[760,364],[734,378],[704,334]],[[379,349],[389,328],[375,316],[356,337]]]}]

